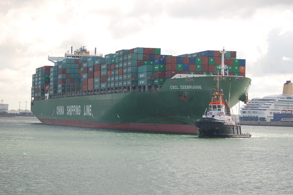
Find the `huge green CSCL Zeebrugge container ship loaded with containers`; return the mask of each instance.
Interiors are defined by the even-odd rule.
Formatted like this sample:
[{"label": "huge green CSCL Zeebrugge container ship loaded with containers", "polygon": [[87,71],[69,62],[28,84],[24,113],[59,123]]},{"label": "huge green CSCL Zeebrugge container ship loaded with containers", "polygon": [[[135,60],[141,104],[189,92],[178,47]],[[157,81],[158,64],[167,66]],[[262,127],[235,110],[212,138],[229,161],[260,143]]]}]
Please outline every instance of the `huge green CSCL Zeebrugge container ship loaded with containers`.
[{"label": "huge green CSCL Zeebrugge container ship loaded with containers", "polygon": [[251,85],[236,51],[171,56],[137,47],[103,57],[81,47],[48,60],[54,66],[36,69],[31,94],[31,110],[46,124],[192,134],[210,102],[213,75],[221,74],[230,107],[248,101]]}]

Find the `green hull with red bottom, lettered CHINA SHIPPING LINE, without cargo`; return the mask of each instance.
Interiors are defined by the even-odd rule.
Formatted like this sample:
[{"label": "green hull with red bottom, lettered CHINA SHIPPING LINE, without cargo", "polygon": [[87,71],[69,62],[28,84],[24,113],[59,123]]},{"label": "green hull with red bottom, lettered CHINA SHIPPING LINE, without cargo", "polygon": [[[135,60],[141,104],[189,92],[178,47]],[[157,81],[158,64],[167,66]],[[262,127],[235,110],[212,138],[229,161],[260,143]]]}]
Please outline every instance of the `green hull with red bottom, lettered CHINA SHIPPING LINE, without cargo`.
[{"label": "green hull with red bottom, lettered CHINA SHIPPING LINE, without cargo", "polygon": [[[251,79],[225,76],[230,107],[245,101]],[[238,78],[238,79],[237,79]],[[31,102],[43,123],[80,127],[197,133],[194,122],[209,105],[214,77],[170,79],[159,91],[67,97]]]}]

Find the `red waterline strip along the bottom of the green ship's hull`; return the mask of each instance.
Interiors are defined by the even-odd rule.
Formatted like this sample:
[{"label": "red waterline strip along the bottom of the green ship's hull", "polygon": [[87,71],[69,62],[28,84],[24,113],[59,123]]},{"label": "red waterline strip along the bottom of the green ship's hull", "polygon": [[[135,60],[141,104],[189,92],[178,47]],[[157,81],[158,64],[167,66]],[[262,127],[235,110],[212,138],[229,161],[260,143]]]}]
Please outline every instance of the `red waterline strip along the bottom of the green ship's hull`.
[{"label": "red waterline strip along the bottom of the green ship's hull", "polygon": [[52,125],[68,125],[76,127],[139,130],[173,133],[197,133],[195,125],[168,125],[168,124],[146,124],[146,123],[98,123],[94,121],[53,120],[39,119],[42,123]]}]

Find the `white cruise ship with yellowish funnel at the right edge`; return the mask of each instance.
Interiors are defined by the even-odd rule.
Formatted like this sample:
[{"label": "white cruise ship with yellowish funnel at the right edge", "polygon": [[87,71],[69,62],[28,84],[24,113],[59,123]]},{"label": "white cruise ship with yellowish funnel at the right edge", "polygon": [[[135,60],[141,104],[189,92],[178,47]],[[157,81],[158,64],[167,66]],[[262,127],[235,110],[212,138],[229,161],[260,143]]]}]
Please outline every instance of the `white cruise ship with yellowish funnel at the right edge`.
[{"label": "white cruise ship with yellowish funnel at the right edge", "polygon": [[271,121],[274,114],[292,114],[293,83],[287,81],[283,94],[252,98],[240,108],[241,121]]}]

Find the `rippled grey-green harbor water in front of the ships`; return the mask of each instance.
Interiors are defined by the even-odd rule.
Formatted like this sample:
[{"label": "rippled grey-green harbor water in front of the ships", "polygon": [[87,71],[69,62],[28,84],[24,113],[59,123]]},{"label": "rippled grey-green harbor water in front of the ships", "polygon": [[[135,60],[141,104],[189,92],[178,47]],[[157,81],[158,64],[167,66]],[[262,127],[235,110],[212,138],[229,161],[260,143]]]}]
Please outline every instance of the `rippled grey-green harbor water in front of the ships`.
[{"label": "rippled grey-green harbor water in front of the ships", "polygon": [[293,128],[251,138],[46,125],[0,117],[0,195],[293,194]]}]

